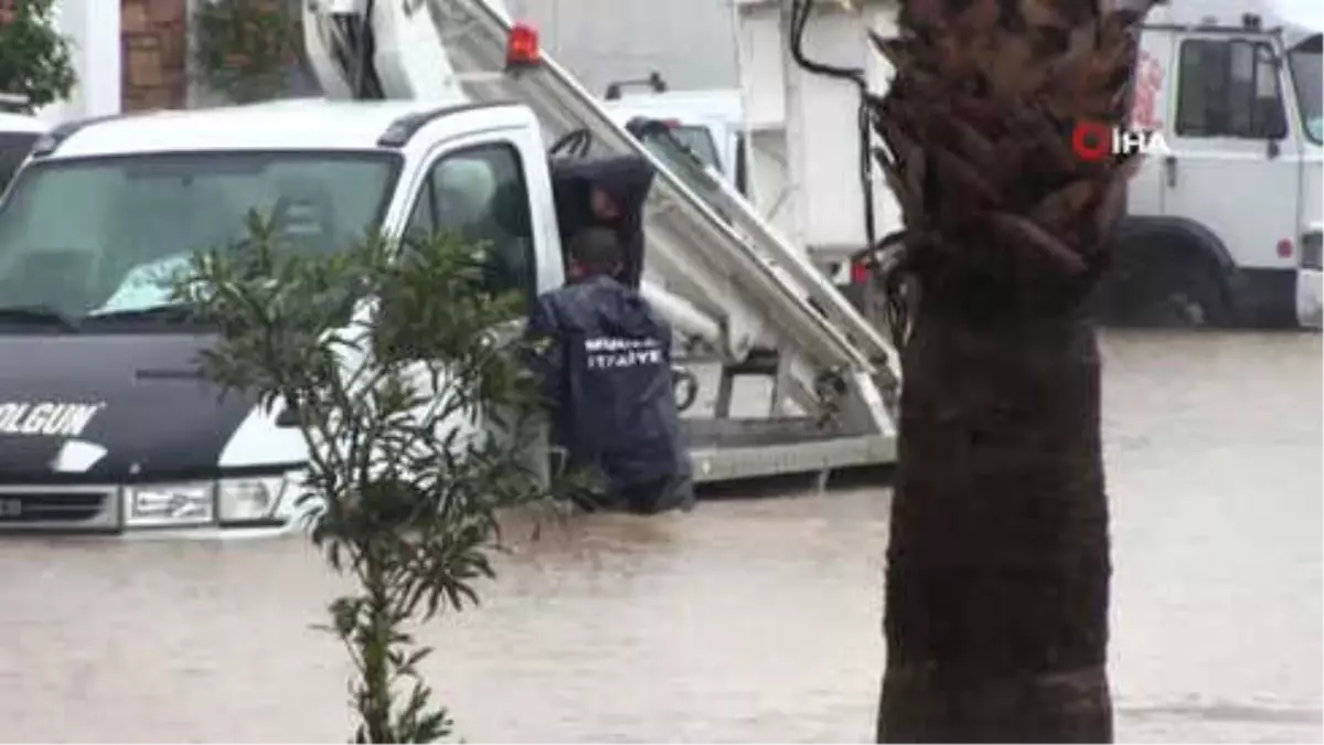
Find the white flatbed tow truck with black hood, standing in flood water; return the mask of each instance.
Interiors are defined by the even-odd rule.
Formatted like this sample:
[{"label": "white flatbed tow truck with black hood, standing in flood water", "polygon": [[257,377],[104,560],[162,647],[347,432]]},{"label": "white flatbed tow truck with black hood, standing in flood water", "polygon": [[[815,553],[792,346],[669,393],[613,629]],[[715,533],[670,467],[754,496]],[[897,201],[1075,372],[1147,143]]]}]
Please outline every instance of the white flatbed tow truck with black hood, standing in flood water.
[{"label": "white flatbed tow truck with black hood, standing in flood water", "polygon": [[[557,198],[584,188],[548,158],[544,131],[556,122],[658,170],[646,273],[666,290],[650,292],[678,327],[711,343],[720,367],[712,416],[687,423],[698,481],[895,459],[895,358],[876,330],[739,198],[719,217],[543,60],[531,29],[482,0],[454,9],[470,13],[454,50],[487,57],[474,78],[487,95],[455,87],[428,101],[110,117],[37,142],[0,205],[0,530],[233,536],[286,532],[315,514],[318,497],[295,488],[299,433],[252,399],[217,398],[196,369],[212,333],[162,313],[167,293],[148,278],[240,237],[242,216],[260,208],[332,249],[371,229],[465,227],[493,258],[520,268],[494,280],[507,282],[500,289],[556,288],[557,209],[573,201]],[[409,19],[372,20],[379,50],[418,49],[385,41],[408,38]],[[331,65],[343,57],[316,46],[328,38],[312,44]],[[520,64],[503,69],[512,57]],[[417,66],[434,73],[429,62]],[[731,383],[748,374],[773,379],[761,416],[731,412]]]}]

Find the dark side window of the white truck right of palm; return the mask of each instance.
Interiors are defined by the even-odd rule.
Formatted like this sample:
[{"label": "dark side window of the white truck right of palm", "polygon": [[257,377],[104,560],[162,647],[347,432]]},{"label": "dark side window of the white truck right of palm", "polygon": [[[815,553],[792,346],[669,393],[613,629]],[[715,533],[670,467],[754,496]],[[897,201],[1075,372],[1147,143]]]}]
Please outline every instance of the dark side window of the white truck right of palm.
[{"label": "dark side window of the white truck right of palm", "polygon": [[1185,40],[1180,76],[1180,137],[1287,137],[1278,65],[1268,44],[1242,38]]}]

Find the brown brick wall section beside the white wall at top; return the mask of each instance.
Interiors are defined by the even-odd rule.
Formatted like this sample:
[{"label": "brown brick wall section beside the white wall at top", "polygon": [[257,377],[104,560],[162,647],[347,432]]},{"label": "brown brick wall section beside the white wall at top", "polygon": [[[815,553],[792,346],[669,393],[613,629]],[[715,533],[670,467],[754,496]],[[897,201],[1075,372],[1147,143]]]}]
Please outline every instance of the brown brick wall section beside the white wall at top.
[{"label": "brown brick wall section beside the white wall at top", "polygon": [[187,16],[187,0],[120,0],[126,111],[184,106]]}]

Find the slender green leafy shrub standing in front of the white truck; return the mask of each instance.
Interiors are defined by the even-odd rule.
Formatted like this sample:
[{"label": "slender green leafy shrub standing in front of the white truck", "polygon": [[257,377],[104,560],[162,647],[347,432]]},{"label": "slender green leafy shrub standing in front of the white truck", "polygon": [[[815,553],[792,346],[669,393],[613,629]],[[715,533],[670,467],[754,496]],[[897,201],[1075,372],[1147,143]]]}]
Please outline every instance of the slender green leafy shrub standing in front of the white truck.
[{"label": "slender green leafy shrub standing in front of the white truck", "polygon": [[526,342],[496,333],[519,298],[485,293],[454,240],[310,255],[256,216],[241,245],[197,255],[175,293],[220,331],[211,379],[294,404],[306,487],[326,500],[312,541],[359,586],[328,626],[357,671],[354,742],[446,737],[417,668],[430,650],[404,627],[478,601],[503,508],[561,504],[532,465],[544,430]]}]

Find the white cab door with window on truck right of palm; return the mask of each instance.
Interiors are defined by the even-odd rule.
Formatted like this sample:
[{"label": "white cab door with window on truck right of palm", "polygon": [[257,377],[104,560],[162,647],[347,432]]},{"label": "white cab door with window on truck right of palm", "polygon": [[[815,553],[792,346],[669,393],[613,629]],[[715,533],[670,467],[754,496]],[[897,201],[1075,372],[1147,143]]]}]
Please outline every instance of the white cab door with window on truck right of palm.
[{"label": "white cab door with window on truck right of palm", "polygon": [[1251,284],[1296,265],[1301,139],[1284,87],[1268,37],[1177,37],[1172,155],[1155,155],[1162,211],[1213,231]]}]

